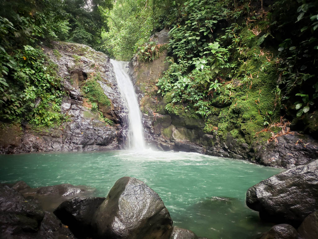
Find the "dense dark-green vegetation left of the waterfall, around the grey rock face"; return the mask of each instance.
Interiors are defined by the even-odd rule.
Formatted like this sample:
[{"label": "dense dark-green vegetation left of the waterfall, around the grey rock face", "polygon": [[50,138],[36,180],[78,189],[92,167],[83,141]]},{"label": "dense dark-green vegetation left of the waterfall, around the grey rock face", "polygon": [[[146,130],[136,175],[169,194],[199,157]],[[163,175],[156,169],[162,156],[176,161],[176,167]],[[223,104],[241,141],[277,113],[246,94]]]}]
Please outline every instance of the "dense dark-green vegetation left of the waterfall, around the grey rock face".
[{"label": "dense dark-green vegetation left of the waterfall, around the grey rock face", "polygon": [[[44,53],[50,40],[100,47],[107,30],[102,0],[1,0],[0,119],[52,126],[60,114],[60,79]],[[23,123],[22,122],[22,123]]]}]

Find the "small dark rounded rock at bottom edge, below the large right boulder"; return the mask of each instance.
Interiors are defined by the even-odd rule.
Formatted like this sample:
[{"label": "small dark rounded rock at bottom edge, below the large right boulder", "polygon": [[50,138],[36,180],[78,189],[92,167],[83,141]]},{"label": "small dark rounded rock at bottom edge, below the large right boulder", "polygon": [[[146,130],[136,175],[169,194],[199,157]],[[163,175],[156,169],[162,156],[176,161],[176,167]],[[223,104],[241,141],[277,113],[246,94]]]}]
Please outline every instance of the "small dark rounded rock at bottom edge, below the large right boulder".
[{"label": "small dark rounded rock at bottom edge, below the large right boulder", "polygon": [[291,225],[279,224],[264,233],[260,239],[298,239],[298,233]]}]

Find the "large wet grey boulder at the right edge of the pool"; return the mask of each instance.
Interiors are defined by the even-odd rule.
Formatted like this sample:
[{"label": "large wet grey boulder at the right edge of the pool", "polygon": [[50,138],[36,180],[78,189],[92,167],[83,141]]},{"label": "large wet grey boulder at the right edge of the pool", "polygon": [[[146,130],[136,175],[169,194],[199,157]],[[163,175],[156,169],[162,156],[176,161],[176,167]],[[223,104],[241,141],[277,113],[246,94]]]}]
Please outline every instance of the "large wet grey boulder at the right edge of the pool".
[{"label": "large wet grey boulder at the right edge of the pool", "polygon": [[246,192],[246,205],[266,221],[298,227],[318,209],[318,160],[252,186]]}]

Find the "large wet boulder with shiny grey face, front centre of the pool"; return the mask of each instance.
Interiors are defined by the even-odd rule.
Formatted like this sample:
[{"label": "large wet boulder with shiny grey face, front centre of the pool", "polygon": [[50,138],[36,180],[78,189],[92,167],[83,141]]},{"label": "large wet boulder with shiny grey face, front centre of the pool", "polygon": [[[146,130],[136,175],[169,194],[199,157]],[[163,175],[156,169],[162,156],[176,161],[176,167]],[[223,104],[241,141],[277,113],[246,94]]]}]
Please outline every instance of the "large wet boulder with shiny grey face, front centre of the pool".
[{"label": "large wet boulder with shiny grey face, front centre of the pool", "polygon": [[172,220],[156,192],[136,178],[122,177],[97,209],[92,226],[100,238],[168,239]]}]

